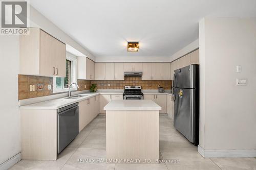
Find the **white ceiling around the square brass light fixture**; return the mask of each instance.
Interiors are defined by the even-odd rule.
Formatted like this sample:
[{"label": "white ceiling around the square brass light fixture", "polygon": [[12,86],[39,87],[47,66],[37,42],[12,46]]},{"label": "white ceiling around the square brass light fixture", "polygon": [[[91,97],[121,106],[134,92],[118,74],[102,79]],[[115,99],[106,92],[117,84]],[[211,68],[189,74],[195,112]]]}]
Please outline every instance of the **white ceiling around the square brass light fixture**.
[{"label": "white ceiling around the square brass light fixture", "polygon": [[[198,38],[205,16],[255,17],[255,0],[32,0],[30,4],[96,57],[165,57]],[[127,41],[139,41],[137,53]]]}]

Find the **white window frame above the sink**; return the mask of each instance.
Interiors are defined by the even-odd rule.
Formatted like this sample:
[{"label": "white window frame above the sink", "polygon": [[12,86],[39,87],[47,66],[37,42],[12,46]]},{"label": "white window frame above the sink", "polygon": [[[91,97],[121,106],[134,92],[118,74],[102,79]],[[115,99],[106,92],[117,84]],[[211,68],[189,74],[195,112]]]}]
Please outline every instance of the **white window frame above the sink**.
[{"label": "white window frame above the sink", "polygon": [[[77,83],[77,57],[66,52],[66,60],[71,61],[71,83]],[[65,78],[61,78],[61,79],[63,82]],[[53,77],[52,83],[53,83],[53,88],[52,88],[53,93],[69,91],[69,88],[56,88],[56,77]],[[71,87],[71,90],[75,91],[77,90],[77,87],[73,86]]]}]

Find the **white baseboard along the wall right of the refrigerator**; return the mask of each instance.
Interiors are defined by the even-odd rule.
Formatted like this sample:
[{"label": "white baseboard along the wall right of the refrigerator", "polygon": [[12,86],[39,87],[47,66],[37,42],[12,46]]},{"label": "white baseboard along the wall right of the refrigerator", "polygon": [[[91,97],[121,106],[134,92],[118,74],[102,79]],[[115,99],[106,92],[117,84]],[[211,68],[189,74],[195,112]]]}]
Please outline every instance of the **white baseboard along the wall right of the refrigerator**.
[{"label": "white baseboard along the wall right of the refrigerator", "polygon": [[205,150],[198,145],[197,151],[204,158],[254,158],[256,150]]}]

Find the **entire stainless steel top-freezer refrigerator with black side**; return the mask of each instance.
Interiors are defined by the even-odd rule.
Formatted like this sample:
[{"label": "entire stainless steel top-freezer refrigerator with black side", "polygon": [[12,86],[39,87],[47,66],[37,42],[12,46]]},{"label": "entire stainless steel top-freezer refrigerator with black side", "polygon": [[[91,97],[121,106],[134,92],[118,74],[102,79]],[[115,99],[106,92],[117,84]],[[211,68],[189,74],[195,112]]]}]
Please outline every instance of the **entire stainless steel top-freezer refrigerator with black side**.
[{"label": "entire stainless steel top-freezer refrigerator with black side", "polygon": [[174,127],[191,143],[199,144],[199,65],[174,71]]}]

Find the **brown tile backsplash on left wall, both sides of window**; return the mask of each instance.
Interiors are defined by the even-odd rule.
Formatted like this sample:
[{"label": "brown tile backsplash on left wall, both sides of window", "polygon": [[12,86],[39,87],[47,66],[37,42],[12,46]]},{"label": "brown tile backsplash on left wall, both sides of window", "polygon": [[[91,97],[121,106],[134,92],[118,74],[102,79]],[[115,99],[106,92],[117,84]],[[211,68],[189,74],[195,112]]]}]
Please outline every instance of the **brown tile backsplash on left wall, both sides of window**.
[{"label": "brown tile backsplash on left wall, both sides of window", "polygon": [[[58,94],[53,93],[52,89],[48,89],[48,85],[51,85],[53,88],[52,81],[52,77],[18,75],[18,100]],[[90,90],[90,80],[77,80],[77,84],[79,91]],[[34,85],[35,91],[30,91],[30,85]],[[84,85],[86,85],[86,88],[84,88]]]}]

